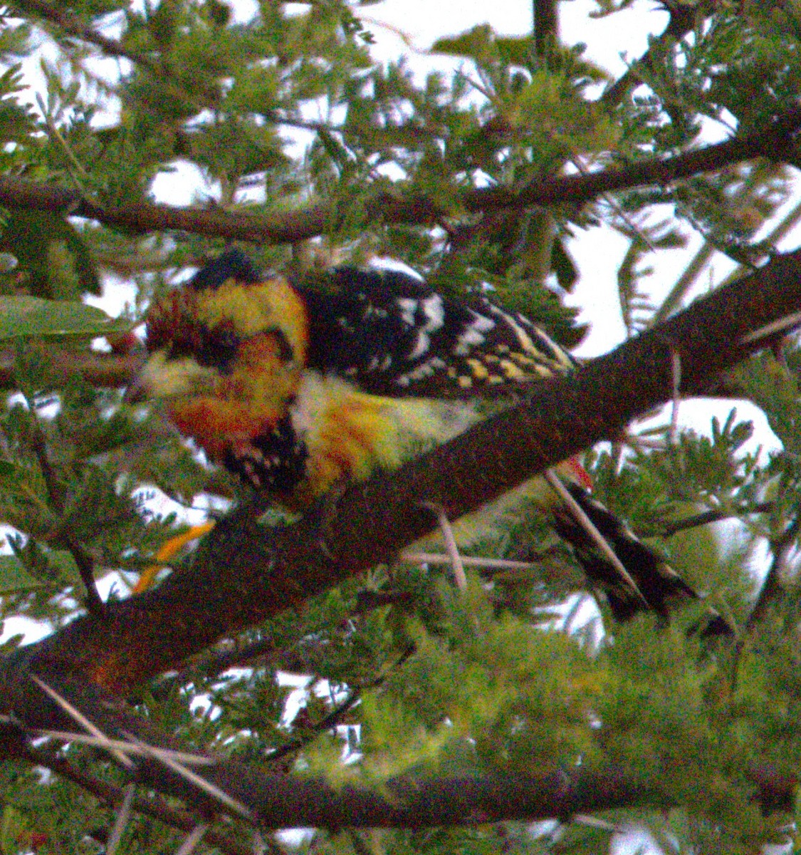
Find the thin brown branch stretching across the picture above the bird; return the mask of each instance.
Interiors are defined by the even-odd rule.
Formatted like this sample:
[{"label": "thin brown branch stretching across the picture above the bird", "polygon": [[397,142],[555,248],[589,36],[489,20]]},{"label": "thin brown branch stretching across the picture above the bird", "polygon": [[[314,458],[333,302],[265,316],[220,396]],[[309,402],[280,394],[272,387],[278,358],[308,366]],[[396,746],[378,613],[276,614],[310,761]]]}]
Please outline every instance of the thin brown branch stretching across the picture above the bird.
[{"label": "thin brown branch stretching across the picture above the bird", "polygon": [[[668,185],[675,180],[714,172],[736,162],[755,157],[779,160],[794,145],[793,134],[801,127],[801,108],[778,117],[772,126],[726,142],[708,145],[671,157],[648,157],[624,167],[598,172],[568,175],[538,181],[522,191],[505,187],[465,190],[461,203],[471,213],[502,209],[523,209],[565,203],[583,203],[606,192],[634,186]],[[295,210],[272,211],[265,215],[228,212],[219,209],[171,208],[149,202],[131,202],[120,207],[103,207],[61,186],[36,184],[9,176],[0,176],[0,205],[9,208],[61,211],[87,217],[107,226],[132,233],[168,229],[205,234],[228,240],[254,243],[296,243],[316,237],[336,227],[340,217],[336,209],[324,203],[312,203]],[[367,205],[369,215],[383,222],[425,225],[458,215],[443,209],[440,203],[424,196],[383,194]]]}]

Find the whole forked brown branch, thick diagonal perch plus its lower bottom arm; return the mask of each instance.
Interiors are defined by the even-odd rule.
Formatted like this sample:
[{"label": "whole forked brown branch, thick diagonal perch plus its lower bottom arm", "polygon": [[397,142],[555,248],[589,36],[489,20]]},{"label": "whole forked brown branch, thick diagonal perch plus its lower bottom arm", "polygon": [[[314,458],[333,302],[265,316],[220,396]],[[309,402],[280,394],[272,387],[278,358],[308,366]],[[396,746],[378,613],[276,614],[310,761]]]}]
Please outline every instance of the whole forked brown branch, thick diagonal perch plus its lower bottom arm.
[{"label": "whole forked brown branch, thick diagonal perch plus its lower bottom arm", "polygon": [[[139,597],[108,604],[102,620],[85,616],[0,662],[0,701],[29,727],[59,726],[61,712],[43,699],[38,674],[96,722],[102,732],[169,746],[119,699],[224,634],[275,615],[375,563],[430,528],[421,498],[458,518],[501,492],[599,439],[616,436],[634,416],[671,394],[671,351],[681,353],[686,392],[699,392],[757,349],[750,339],[801,309],[801,251],[722,288],[659,327],[632,339],[576,374],[543,382],[528,401],[471,428],[392,476],[348,489],[278,533],[228,517],[209,536],[195,566]],[[367,534],[365,534],[367,533]],[[140,761],[140,779],[192,805],[209,803],[196,785],[155,759]],[[664,797],[614,770],[562,771],[517,779],[467,775],[396,779],[382,795],[360,787],[332,789],[316,778],[261,775],[230,762],[203,775],[263,823],[280,827],[422,827],[569,816]]]}]

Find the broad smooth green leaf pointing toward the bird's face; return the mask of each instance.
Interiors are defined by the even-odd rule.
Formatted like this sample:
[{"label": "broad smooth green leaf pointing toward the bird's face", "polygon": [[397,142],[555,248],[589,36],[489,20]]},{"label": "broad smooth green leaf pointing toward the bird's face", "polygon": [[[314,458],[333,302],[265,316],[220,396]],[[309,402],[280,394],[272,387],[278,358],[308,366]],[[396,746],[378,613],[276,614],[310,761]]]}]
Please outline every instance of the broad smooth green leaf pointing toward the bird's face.
[{"label": "broad smooth green leaf pointing toward the bird's face", "polygon": [[115,321],[103,310],[73,300],[0,295],[0,340],[74,335],[94,338],[130,329],[130,321]]}]

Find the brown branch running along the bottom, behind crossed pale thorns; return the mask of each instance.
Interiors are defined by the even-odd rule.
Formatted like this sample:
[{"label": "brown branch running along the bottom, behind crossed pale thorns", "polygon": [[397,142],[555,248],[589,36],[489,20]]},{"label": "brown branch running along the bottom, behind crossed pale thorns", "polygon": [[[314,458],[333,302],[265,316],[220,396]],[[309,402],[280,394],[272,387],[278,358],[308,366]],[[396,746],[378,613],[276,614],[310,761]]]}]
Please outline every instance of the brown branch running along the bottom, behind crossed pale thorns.
[{"label": "brown branch running along the bottom, behind crossed pale thorns", "polygon": [[[140,744],[146,741],[150,746],[178,747],[176,740],[153,722],[135,715],[98,687],[80,679],[42,675],[104,734],[115,738],[132,734]],[[26,723],[35,725],[61,715],[32,681],[25,682],[36,693]],[[426,828],[505,819],[566,819],[575,813],[632,805],[670,806],[669,797],[657,787],[635,781],[613,766],[551,766],[530,775],[398,775],[384,781],[376,792],[360,782],[332,786],[319,775],[269,774],[255,764],[219,757],[213,760],[213,764],[193,769],[248,808],[261,828]],[[155,758],[137,759],[136,774],[137,781],[145,786],[184,799],[198,811],[213,815],[220,810],[219,802],[209,800],[199,787]]]}]

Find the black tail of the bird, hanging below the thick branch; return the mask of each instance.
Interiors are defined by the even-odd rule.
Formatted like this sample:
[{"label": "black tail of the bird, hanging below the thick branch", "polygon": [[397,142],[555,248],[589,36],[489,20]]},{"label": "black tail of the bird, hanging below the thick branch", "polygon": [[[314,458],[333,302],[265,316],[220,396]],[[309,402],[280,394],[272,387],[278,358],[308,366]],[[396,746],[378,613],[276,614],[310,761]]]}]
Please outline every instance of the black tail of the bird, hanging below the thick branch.
[{"label": "black tail of the bird, hanging below the thick branch", "polygon": [[[699,593],[663,557],[596,501],[584,486],[570,481],[565,487],[630,577],[624,578],[610,558],[599,550],[592,535],[569,507],[552,506],[554,528],[572,545],[576,560],[589,580],[604,591],[615,620],[627,621],[644,610],[667,618],[671,610],[699,598]],[[709,637],[732,634],[734,630],[720,614],[710,609],[708,618],[697,631]]]}]

